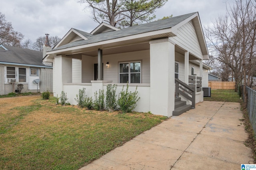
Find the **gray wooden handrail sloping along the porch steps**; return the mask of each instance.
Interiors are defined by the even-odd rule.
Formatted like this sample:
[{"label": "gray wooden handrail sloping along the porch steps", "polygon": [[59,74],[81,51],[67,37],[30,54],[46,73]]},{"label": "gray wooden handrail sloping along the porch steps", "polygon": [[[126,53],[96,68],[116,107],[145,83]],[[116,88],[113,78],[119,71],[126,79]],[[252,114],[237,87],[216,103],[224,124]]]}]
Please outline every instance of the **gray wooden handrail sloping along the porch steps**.
[{"label": "gray wooden handrail sloping along the porch steps", "polygon": [[179,94],[184,96],[186,99],[192,102],[192,109],[196,107],[196,90],[190,87],[188,84],[175,78],[175,96],[178,97]]}]

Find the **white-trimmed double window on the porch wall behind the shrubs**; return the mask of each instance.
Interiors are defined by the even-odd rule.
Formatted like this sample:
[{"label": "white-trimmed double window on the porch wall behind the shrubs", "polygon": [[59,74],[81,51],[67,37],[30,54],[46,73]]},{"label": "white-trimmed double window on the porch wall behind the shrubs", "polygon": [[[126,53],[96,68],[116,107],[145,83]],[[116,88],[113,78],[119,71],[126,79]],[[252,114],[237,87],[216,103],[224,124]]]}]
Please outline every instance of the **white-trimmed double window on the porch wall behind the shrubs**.
[{"label": "white-trimmed double window on the porch wall behind the shrubs", "polygon": [[141,61],[119,63],[119,83],[140,83]]}]

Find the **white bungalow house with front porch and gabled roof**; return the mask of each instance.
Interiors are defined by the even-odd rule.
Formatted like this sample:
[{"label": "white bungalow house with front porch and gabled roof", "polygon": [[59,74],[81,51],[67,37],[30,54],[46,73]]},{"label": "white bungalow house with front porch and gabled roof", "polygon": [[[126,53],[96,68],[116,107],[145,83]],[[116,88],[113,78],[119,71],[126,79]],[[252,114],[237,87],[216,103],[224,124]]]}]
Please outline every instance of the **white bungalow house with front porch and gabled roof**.
[{"label": "white bungalow house with front porch and gabled roof", "polygon": [[[210,68],[202,61],[209,55],[198,12],[124,29],[106,23],[91,33],[72,28],[46,54],[43,61],[53,63],[54,96],[64,91],[70,104],[76,104],[79,89],[94,96],[112,83],[119,93],[128,82],[131,91],[138,86],[135,111],[170,117],[176,115],[175,96],[187,104],[193,95],[194,103],[202,102],[200,87],[208,87]],[[187,87],[196,79],[197,90]]]}]

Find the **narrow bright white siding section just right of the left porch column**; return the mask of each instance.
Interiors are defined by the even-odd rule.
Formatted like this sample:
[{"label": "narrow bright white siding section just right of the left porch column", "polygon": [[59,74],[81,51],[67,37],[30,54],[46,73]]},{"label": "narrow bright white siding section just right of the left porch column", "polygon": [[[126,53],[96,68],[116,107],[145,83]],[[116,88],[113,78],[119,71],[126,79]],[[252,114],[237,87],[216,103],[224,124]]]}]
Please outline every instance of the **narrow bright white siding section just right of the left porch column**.
[{"label": "narrow bright white siding section just right of the left porch column", "polygon": [[72,59],[72,82],[82,82],[82,61],[79,59]]}]

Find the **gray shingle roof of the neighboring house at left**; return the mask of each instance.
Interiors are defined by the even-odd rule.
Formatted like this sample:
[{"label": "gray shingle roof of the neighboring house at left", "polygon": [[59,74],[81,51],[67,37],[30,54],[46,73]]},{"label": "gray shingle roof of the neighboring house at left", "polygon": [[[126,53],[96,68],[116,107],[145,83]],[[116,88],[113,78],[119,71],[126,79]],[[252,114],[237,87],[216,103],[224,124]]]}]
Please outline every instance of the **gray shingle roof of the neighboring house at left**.
[{"label": "gray shingle roof of the neighboring house at left", "polygon": [[3,46],[8,50],[0,48],[0,62],[45,66],[42,64],[43,52],[41,51]]}]

